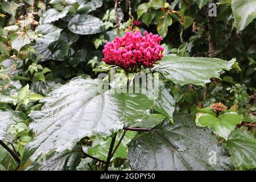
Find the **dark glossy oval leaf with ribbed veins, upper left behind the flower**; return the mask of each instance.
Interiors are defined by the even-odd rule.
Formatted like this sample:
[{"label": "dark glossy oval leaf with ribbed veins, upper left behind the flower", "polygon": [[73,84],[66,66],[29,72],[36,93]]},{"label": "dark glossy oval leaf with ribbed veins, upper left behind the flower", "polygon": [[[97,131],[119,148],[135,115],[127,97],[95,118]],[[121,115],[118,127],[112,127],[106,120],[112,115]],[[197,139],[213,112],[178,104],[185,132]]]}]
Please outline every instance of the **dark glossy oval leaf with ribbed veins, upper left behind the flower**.
[{"label": "dark glossy oval leaf with ribbed veins, upper left behind the flower", "polygon": [[75,15],[68,23],[68,29],[75,34],[88,35],[102,32],[103,22],[92,15]]}]

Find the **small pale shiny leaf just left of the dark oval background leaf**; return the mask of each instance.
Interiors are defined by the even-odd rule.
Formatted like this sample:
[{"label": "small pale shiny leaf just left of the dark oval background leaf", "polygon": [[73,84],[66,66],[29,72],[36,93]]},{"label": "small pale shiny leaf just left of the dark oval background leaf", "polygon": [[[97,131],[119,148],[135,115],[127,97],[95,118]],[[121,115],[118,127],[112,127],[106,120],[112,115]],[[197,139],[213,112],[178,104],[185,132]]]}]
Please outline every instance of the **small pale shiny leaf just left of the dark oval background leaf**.
[{"label": "small pale shiny leaf just left of the dark oval background leaf", "polygon": [[40,24],[55,22],[56,20],[65,17],[68,14],[68,9],[57,11],[55,9],[48,9],[46,13],[40,18]]}]

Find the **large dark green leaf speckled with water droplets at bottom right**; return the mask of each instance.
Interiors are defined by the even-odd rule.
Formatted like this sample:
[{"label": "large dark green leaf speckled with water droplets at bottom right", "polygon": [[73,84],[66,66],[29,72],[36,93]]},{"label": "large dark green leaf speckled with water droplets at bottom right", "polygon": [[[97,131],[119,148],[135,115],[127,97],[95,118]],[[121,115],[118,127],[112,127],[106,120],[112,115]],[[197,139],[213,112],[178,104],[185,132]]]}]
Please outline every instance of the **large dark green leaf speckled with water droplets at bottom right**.
[{"label": "large dark green leaf speckled with water droplets at bottom right", "polygon": [[208,129],[195,125],[189,114],[135,138],[127,158],[133,170],[225,170],[229,159]]}]

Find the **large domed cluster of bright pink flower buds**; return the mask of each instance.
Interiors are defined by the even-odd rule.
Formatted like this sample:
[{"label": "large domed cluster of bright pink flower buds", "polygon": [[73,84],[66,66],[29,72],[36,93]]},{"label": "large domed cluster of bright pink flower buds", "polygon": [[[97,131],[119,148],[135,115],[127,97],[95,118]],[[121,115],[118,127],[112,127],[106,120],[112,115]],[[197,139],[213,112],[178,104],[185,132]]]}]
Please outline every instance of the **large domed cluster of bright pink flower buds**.
[{"label": "large domed cluster of bright pink flower buds", "polygon": [[117,65],[121,68],[135,68],[143,65],[151,67],[155,61],[162,59],[164,48],[160,46],[162,37],[137,31],[127,32],[123,38],[116,37],[114,42],[106,43],[102,51],[106,64]]}]

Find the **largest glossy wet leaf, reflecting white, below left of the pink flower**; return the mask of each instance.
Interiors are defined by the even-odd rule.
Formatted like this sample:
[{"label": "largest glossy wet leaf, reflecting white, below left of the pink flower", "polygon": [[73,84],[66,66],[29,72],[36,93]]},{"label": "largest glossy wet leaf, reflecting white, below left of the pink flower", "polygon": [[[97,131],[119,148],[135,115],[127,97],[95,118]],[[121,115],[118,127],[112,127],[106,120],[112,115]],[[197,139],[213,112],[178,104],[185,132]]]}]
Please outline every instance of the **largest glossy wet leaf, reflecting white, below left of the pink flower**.
[{"label": "largest glossy wet leaf, reflecting white, below left of the pink flower", "polygon": [[43,100],[41,111],[30,114],[35,139],[27,144],[33,161],[42,153],[71,150],[83,137],[108,137],[126,122],[147,117],[154,101],[143,94],[99,92],[101,80],[89,76],[73,78]]}]

